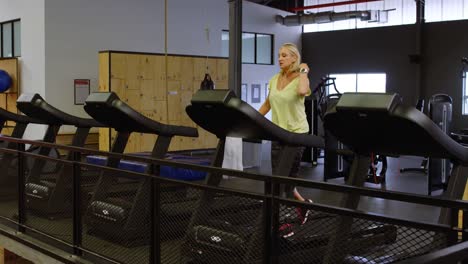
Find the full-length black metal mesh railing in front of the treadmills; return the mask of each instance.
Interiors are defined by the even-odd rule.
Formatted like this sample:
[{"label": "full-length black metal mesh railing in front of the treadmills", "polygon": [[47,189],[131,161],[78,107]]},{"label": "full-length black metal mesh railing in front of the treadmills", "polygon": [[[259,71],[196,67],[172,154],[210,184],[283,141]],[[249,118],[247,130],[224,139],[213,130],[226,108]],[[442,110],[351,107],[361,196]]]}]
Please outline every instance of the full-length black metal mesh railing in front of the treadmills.
[{"label": "full-length black metal mesh railing in front of the treadmills", "polygon": [[[5,208],[0,216],[16,221],[24,202],[24,218],[19,222],[26,229],[75,244],[96,258],[121,263],[150,263],[152,258],[169,264],[262,263],[265,258],[294,264],[392,263],[444,248],[458,231],[448,225],[399,220],[319,201],[299,203],[272,195],[267,184],[263,192],[247,192],[34,154],[19,157],[24,157],[20,162],[25,172],[24,201],[0,200],[0,208]],[[32,169],[38,167],[37,161],[43,163],[41,170]],[[11,171],[5,169],[1,177],[11,174],[16,191],[21,175],[15,170],[18,159],[9,164]],[[285,181],[247,176],[258,176],[263,182],[255,180],[270,185]],[[73,184],[77,179],[78,186]],[[310,188],[291,181],[291,185]],[[271,190],[280,189],[276,187]],[[353,191],[369,196],[363,190]],[[74,201],[77,196],[80,200]],[[421,197],[417,200],[428,205]],[[466,205],[458,202],[450,207]]]}]

